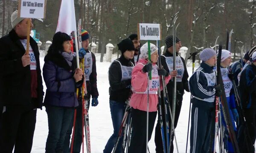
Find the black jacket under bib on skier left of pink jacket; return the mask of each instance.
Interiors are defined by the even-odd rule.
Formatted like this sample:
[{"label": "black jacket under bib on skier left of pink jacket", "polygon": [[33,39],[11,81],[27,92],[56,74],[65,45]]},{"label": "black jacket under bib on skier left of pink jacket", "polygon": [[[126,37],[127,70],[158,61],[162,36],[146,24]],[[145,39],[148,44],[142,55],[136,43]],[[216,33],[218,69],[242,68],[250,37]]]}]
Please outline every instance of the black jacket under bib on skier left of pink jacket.
[{"label": "black jacket under bib on skier left of pink jacket", "polygon": [[[123,55],[116,59],[123,66],[133,66],[131,60],[125,59]],[[108,70],[108,80],[109,80],[109,99],[116,102],[125,102],[131,92],[131,79],[121,81],[122,79],[122,70],[119,62],[114,61]]]}]

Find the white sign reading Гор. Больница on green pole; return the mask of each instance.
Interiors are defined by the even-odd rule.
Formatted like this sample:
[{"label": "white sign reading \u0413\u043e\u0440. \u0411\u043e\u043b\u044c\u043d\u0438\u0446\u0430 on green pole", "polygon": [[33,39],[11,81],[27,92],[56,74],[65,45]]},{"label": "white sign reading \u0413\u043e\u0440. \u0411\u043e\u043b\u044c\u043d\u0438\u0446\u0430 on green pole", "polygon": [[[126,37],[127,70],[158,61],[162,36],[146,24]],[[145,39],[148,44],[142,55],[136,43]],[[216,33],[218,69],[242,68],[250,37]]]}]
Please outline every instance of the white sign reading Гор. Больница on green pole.
[{"label": "white sign reading \u0413\u043e\u0440. \u0411\u043e\u043b\u044c\u043d\u0438\u0446\u0430 on green pole", "polygon": [[161,25],[138,23],[138,37],[140,40],[161,40]]}]

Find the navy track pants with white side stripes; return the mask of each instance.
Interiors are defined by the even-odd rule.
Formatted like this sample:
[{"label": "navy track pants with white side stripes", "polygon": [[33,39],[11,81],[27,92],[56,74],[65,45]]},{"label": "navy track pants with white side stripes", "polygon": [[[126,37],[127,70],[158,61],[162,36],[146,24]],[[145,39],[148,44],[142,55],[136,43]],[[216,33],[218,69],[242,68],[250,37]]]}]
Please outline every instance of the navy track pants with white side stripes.
[{"label": "navy track pants with white side stripes", "polygon": [[208,153],[214,139],[215,108],[192,106],[190,129],[190,153]]}]

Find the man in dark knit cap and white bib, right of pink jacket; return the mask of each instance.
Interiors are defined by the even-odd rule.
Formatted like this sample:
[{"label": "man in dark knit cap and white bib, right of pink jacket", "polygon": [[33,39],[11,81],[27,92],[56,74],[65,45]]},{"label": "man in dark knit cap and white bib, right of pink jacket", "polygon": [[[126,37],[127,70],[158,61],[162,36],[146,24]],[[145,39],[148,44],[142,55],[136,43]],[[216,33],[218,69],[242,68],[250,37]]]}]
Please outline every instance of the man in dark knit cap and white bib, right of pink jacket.
[{"label": "man in dark knit cap and white bib, right of pink jacket", "polygon": [[[178,52],[180,48],[182,47],[180,39],[176,36],[176,43],[173,44],[173,36],[169,35],[165,38],[166,43],[166,52],[160,56],[161,64],[163,65],[163,68],[169,72],[173,77],[176,76],[176,103],[175,103],[175,120],[174,120],[174,127],[177,127],[178,119],[180,116],[180,110],[183,100],[183,94],[184,90],[189,92],[189,85],[188,85],[188,71],[186,69],[185,61],[183,57],[180,57],[178,55]],[[176,70],[173,71],[173,45],[176,45]],[[169,83],[166,85],[168,96],[169,96],[169,102],[172,108],[173,102],[173,86],[174,82],[173,79],[169,81]],[[163,92],[162,92],[163,93]],[[164,103],[162,100],[162,107]],[[162,108],[164,110],[164,108]],[[173,113],[173,110],[172,110]],[[162,113],[164,114],[164,112]],[[169,113],[168,113],[169,115]],[[163,116],[164,118],[164,116]],[[169,117],[169,129],[171,129],[171,118]],[[165,122],[163,123],[165,126]],[[156,129],[155,129],[155,144],[156,144],[156,153],[163,153],[163,142],[161,139],[161,130],[160,130],[160,122],[157,121]],[[169,144],[167,145],[169,147]],[[172,143],[171,143],[171,150],[170,153],[173,153],[173,135],[172,135]]]}]

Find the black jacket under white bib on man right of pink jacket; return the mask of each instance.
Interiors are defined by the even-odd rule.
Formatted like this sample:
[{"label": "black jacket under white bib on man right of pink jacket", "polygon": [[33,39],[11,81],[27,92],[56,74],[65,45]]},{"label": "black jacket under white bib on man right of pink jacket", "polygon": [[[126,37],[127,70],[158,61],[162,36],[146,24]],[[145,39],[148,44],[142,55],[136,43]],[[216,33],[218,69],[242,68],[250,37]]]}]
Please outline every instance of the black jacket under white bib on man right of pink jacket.
[{"label": "black jacket under white bib on man right of pink jacket", "polygon": [[[169,51],[166,51],[163,54],[165,57],[173,57],[173,54],[171,54]],[[166,63],[166,59],[165,57],[161,56],[161,64],[163,65],[163,68],[169,72],[169,68],[167,66]],[[183,57],[180,57],[183,65],[184,65],[184,74],[182,77],[182,82],[176,82],[176,96],[177,96],[177,100],[182,101],[182,96],[184,94],[184,90],[189,92],[189,83],[188,83],[188,78],[189,78],[189,74],[188,71],[186,69],[186,65],[185,65],[185,61],[183,59]],[[166,85],[167,90],[168,90],[168,96],[170,101],[172,101],[172,88],[173,88],[173,81],[170,80],[169,83]]]}]

